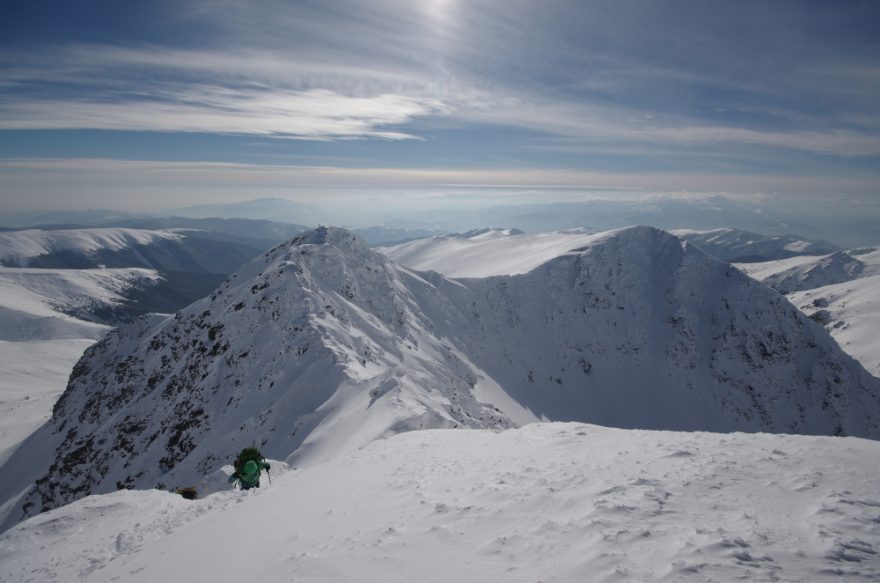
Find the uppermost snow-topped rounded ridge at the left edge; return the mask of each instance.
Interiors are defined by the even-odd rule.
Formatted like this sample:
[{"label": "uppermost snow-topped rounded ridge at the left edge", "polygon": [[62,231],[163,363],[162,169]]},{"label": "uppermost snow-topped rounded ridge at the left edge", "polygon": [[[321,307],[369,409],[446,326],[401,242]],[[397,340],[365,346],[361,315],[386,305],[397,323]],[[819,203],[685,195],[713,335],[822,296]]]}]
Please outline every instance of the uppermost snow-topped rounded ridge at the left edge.
[{"label": "uppermost snow-topped rounded ridge at the left edge", "polygon": [[134,245],[149,245],[159,239],[176,240],[181,237],[172,231],[124,228],[11,231],[0,233],[0,263],[27,267],[35,257],[60,251],[77,254],[90,254],[98,250],[120,251]]}]

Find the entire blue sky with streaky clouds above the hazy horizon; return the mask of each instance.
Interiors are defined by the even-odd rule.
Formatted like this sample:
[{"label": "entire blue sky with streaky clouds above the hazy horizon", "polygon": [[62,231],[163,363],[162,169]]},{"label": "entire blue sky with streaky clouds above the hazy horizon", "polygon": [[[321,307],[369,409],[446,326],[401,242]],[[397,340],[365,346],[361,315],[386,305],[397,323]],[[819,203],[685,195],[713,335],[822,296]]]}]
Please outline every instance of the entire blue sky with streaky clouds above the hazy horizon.
[{"label": "entire blue sky with streaky clouds above the hazy horizon", "polygon": [[877,30],[856,0],[14,3],[0,212],[722,194],[880,220]]}]

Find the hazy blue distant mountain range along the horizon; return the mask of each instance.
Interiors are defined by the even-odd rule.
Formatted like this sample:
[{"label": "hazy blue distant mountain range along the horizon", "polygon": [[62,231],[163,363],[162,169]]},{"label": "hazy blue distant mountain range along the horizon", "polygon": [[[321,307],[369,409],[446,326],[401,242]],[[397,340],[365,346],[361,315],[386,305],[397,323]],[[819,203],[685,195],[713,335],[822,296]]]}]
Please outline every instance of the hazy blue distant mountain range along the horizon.
[{"label": "hazy blue distant mountain range along the horizon", "polygon": [[[792,214],[766,206],[748,204],[724,196],[701,199],[657,197],[651,200],[586,200],[583,202],[508,204],[502,206],[431,208],[404,212],[388,205],[377,212],[375,225],[354,229],[371,245],[393,245],[415,238],[507,225],[526,232],[581,228],[599,232],[627,225],[651,225],[661,229],[712,231],[735,227],[762,236],[789,236],[832,246],[857,247],[880,243],[880,225],[870,218],[835,219],[806,212]],[[221,219],[241,221],[222,224]],[[166,222],[163,224],[161,220]],[[192,220],[214,221],[204,226]],[[247,223],[247,221],[267,221]],[[130,227],[144,229],[200,228],[227,232],[242,238],[274,239],[292,236],[287,229],[301,230],[318,224],[335,224],[332,208],[320,210],[282,198],[260,198],[238,203],[221,203],[168,210],[163,215],[112,210],[73,212],[6,213],[0,225],[16,228]],[[309,225],[309,227],[303,227]],[[285,235],[286,233],[286,235]],[[282,236],[284,235],[284,236]],[[279,238],[280,237],[280,238]],[[823,243],[824,244],[824,243]]]}]

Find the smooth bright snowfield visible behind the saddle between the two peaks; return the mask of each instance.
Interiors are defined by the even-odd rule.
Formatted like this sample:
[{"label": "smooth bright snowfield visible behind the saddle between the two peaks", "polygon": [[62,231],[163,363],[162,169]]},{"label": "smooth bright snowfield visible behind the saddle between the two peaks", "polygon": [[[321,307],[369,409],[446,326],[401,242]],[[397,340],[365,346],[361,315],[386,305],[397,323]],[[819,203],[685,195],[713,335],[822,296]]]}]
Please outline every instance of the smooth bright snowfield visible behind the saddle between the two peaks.
[{"label": "smooth bright snowfield visible behind the saddle between the two peaks", "polygon": [[448,277],[489,277],[526,273],[588,244],[592,237],[582,231],[525,234],[515,229],[477,229],[379,250],[420,271],[437,271]]}]

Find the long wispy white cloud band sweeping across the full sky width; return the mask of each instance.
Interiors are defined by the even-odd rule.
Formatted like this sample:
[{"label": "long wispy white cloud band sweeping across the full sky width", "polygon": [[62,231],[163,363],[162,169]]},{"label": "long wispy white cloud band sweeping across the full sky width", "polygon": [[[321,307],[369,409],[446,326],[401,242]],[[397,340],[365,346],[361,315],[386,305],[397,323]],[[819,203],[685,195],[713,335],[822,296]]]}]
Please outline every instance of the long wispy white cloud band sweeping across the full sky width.
[{"label": "long wispy white cloud band sweeping across the full sky width", "polygon": [[[650,109],[491,87],[452,74],[440,80],[436,73],[393,65],[359,68],[329,57],[306,61],[265,51],[82,45],[58,59],[27,64],[8,67],[0,75],[0,88],[9,93],[0,104],[0,129],[397,140],[419,137],[403,128],[410,122],[444,117],[441,125],[518,127],[618,147],[759,145],[835,156],[880,155],[880,135],[867,123],[861,131],[709,125],[684,115],[655,115]],[[127,74],[120,76],[119,71]],[[58,99],[15,91],[44,78],[72,87],[72,95]],[[208,79],[213,81],[203,81]]]}]

